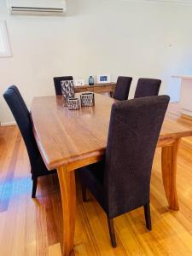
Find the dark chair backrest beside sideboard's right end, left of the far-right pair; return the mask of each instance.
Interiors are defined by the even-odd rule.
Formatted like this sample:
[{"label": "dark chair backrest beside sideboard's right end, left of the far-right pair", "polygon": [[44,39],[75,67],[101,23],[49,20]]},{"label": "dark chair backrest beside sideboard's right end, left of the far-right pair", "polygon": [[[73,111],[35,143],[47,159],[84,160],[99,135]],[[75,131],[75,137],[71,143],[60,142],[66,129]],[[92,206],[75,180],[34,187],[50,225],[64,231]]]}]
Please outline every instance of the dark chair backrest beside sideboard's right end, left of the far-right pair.
[{"label": "dark chair backrest beside sideboard's right end, left of the far-right pair", "polygon": [[132,78],[119,77],[114,90],[114,99],[119,101],[125,101],[128,99]]}]

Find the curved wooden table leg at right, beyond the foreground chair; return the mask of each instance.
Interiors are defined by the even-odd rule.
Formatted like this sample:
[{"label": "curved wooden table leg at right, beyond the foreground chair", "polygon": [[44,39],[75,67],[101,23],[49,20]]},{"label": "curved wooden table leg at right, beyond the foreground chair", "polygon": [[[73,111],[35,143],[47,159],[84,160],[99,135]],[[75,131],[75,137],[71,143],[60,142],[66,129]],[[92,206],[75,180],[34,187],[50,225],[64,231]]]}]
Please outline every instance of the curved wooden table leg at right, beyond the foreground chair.
[{"label": "curved wooden table leg at right, beyond the foreground chair", "polygon": [[162,148],[161,163],[162,177],[166,198],[170,209],[178,211],[176,174],[177,174],[177,150],[180,139],[177,139],[171,145]]}]

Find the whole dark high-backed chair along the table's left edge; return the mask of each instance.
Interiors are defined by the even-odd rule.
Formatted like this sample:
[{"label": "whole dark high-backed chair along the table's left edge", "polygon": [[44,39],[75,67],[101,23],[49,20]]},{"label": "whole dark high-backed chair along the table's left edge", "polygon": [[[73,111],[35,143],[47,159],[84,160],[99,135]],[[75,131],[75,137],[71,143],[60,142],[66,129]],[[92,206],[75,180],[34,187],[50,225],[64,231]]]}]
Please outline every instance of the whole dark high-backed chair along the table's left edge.
[{"label": "whole dark high-backed chair along the table's left edge", "polygon": [[38,177],[51,174],[53,172],[48,171],[44,165],[44,160],[39,153],[38,145],[32,133],[31,115],[29,110],[26,108],[26,103],[20,95],[20,91],[15,85],[12,85],[4,92],[3,97],[15,117],[15,121],[19,126],[20,133],[26,144],[26,150],[31,164],[32,198],[34,198],[38,185]]}]

